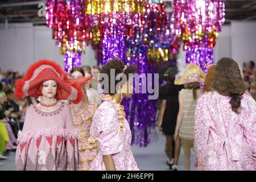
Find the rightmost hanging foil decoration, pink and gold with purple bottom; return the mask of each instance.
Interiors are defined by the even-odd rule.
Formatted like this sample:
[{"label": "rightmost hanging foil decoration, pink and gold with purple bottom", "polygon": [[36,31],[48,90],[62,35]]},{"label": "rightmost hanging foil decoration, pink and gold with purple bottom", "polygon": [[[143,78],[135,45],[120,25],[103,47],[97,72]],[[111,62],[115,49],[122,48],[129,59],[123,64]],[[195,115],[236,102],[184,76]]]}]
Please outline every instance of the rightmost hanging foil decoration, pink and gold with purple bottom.
[{"label": "rightmost hanging foil decoration, pink and gold with purple bottom", "polygon": [[224,0],[174,0],[172,21],[176,35],[183,41],[187,63],[207,72],[213,63],[213,47],[225,22]]}]

